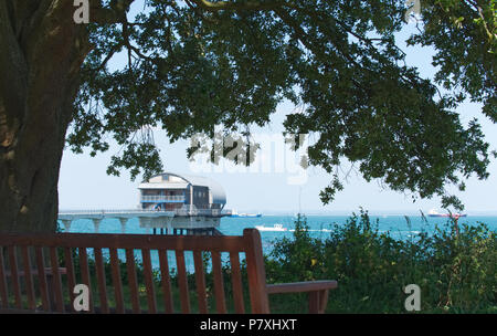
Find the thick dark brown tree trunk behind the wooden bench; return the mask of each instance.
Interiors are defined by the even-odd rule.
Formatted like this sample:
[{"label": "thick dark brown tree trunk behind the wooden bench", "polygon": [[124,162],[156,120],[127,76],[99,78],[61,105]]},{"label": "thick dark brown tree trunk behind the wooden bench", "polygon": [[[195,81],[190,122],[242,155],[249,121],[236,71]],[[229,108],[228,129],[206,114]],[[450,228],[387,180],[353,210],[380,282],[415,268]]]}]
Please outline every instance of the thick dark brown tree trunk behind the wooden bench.
[{"label": "thick dark brown tree trunk behind the wooden bench", "polygon": [[73,1],[0,0],[0,231],[54,232],[57,180],[89,52]]}]

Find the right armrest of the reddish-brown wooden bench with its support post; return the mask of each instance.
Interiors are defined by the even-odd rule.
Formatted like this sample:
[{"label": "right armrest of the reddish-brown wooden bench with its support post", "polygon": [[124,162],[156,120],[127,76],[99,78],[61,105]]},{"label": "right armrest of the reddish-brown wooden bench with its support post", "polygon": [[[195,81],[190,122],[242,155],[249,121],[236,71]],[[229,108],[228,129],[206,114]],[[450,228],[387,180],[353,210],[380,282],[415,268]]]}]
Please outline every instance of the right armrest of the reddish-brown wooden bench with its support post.
[{"label": "right armrest of the reddish-brown wooden bench with its support post", "polygon": [[305,281],[266,285],[267,294],[281,293],[309,293],[309,313],[325,313],[328,303],[328,291],[335,290],[338,283],[335,280]]}]

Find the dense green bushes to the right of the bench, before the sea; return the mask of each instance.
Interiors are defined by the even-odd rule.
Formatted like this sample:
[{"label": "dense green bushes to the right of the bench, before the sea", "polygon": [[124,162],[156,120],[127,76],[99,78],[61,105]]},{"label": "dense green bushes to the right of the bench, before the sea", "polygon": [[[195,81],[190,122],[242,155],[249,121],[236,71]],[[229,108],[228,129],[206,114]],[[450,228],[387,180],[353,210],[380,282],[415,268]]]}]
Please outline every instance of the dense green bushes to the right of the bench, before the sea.
[{"label": "dense green bushes to the right of the bench, before the sea", "polygon": [[[314,239],[298,217],[292,239],[274,242],[266,259],[269,283],[334,279],[328,312],[405,313],[408,284],[421,287],[421,312],[497,312],[497,238],[485,224],[447,222],[415,239],[380,233],[368,212],[335,224],[328,238]],[[295,306],[302,296],[274,300]]]}]

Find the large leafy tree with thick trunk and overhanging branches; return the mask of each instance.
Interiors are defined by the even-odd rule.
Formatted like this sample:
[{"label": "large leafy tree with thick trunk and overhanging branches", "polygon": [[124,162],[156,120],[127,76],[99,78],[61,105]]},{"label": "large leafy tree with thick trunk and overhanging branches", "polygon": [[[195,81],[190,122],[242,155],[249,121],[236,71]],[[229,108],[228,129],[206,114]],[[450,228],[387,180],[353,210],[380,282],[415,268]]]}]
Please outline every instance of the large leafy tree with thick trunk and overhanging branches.
[{"label": "large leafy tree with thick trunk and overhanging branches", "polygon": [[416,197],[487,177],[480,127],[454,111],[469,95],[496,122],[494,0],[421,2],[411,43],[435,46],[435,82],[395,44],[401,0],[146,0],[133,18],[134,0],[89,2],[78,24],[85,1],[0,0],[2,231],[55,229],[66,141],[96,154],[112,135],[108,172],[147,175],[161,168],[151,127],[171,141],[215,125],[246,135],[285,98],[305,106],[286,130],[317,135],[309,164],[332,175],[325,202],[343,159]]}]

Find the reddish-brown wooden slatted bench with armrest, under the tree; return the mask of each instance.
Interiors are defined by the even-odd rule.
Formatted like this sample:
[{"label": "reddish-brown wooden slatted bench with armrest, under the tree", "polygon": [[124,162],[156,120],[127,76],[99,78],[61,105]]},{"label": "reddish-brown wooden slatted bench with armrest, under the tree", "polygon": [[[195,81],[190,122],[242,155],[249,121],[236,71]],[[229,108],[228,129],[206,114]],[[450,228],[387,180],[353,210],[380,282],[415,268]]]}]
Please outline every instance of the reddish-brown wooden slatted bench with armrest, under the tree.
[{"label": "reddish-brown wooden slatted bench with armrest, under the tree", "polygon": [[[141,271],[136,265],[136,253],[142,263],[144,284],[138,283],[137,272]],[[204,260],[205,253],[210,253],[210,264]],[[188,258],[193,262],[187,263]],[[109,280],[105,270],[107,259]],[[223,263],[228,265],[228,261],[231,267],[224,272]],[[242,272],[245,269],[241,264],[245,262],[246,272]],[[190,272],[187,270],[189,265]],[[170,266],[176,266],[175,273]],[[208,313],[210,290],[207,287],[205,266],[212,272],[216,313],[229,312],[226,293],[232,297],[230,312],[245,313],[247,302],[251,313],[269,313],[268,294],[303,292],[309,293],[309,313],[324,313],[328,291],[337,287],[336,281],[267,285],[261,235],[255,229],[245,229],[241,237],[0,234],[0,313],[74,312],[76,295],[73,288],[76,284],[88,286],[91,313],[175,313],[173,279],[177,282],[175,301],[179,297],[178,311]],[[154,270],[160,275],[160,282],[155,281]],[[121,273],[126,273],[126,282]],[[231,282],[231,291],[226,291],[225,279]],[[243,281],[248,287],[246,297]],[[125,290],[129,295],[125,295]],[[140,292],[145,292],[146,304],[140,303]],[[195,305],[192,305],[190,296],[197,297]],[[161,312],[158,312],[157,300],[162,301]]]}]

